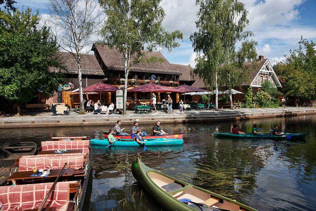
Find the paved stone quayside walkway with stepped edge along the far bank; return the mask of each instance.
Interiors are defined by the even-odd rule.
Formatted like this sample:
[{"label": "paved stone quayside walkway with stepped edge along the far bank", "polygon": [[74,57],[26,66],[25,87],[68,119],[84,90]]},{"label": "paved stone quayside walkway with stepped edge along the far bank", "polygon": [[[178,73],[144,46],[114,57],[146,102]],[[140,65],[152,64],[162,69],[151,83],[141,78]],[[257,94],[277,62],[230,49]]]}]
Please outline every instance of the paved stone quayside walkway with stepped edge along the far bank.
[{"label": "paved stone quayside walkway with stepped edge along the far bank", "polygon": [[151,114],[101,114],[94,115],[87,113],[80,115],[78,109],[70,109],[70,115],[52,116],[51,111],[32,112],[16,116],[14,114],[0,115],[0,128],[17,127],[52,127],[52,126],[88,126],[88,125],[113,125],[117,120],[124,121],[124,124],[133,125],[133,122],[155,123],[160,120],[164,123],[198,122],[198,121],[221,121],[251,118],[265,118],[273,116],[293,116],[301,114],[316,114],[316,108],[306,107],[286,107],[280,108],[240,108],[240,109],[219,109],[219,111],[184,111],[180,114],[179,110],[174,113],[157,111]]}]

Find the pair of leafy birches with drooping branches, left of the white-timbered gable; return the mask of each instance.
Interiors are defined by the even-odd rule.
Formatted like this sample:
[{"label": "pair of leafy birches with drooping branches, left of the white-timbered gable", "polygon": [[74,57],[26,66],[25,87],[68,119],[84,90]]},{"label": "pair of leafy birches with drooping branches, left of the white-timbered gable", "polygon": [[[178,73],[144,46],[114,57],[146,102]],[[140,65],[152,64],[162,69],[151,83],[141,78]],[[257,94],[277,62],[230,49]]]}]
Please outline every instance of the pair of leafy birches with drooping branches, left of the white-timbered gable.
[{"label": "pair of leafy birches with drooping branches, left of the white-timbered gable", "polygon": [[206,87],[215,86],[216,110],[218,82],[228,87],[233,108],[230,90],[248,77],[243,62],[257,58],[257,42],[248,39],[251,32],[244,32],[249,22],[247,11],[237,0],[196,0],[196,5],[200,7],[196,21],[198,32],[191,34],[190,40],[194,51],[203,54],[198,54],[193,73],[203,78]]}]

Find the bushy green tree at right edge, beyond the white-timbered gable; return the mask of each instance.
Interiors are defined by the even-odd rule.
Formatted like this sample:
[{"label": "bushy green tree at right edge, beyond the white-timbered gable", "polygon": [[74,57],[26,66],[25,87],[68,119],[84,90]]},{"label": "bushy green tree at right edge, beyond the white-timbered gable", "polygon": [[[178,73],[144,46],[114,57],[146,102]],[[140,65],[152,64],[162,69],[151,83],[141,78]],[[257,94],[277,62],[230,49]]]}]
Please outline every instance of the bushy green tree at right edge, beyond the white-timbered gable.
[{"label": "bushy green tree at right edge, beyond the white-timbered gable", "polygon": [[298,97],[301,101],[316,100],[316,50],[313,41],[303,37],[297,50],[290,50],[284,62],[277,63],[273,69],[279,77],[282,92],[290,99]]}]

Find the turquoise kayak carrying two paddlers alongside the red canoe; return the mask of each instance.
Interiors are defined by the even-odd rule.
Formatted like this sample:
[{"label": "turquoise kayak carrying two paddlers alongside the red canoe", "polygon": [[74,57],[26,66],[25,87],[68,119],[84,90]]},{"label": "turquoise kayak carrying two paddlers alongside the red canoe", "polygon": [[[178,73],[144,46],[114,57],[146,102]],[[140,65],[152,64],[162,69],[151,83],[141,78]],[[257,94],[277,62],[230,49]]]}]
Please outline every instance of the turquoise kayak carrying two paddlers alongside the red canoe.
[{"label": "turquoise kayak carrying two paddlers alongside the red canoe", "polygon": [[[108,145],[110,144],[107,139],[90,139],[90,144],[95,145]],[[177,138],[157,138],[146,140],[145,146],[162,146],[162,145],[177,145],[183,144],[183,139]],[[136,141],[131,141],[131,139],[121,139],[120,141],[116,141],[112,146],[143,146],[143,144],[137,143]]]}]

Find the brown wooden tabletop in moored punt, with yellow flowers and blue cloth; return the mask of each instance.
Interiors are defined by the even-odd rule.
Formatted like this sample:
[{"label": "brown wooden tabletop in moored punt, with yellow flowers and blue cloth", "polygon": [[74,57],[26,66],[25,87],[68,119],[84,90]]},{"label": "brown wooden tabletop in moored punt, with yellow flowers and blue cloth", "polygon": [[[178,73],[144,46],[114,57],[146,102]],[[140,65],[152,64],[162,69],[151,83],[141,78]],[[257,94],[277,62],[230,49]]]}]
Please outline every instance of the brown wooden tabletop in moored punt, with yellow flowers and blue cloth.
[{"label": "brown wooden tabletop in moored punt, with yellow flowers and blue cloth", "polygon": [[[62,169],[52,169],[47,177],[58,177],[60,171]],[[65,168],[63,173],[60,175],[61,177],[68,177],[72,176],[74,174],[75,169],[74,168]],[[30,177],[33,174],[33,171],[21,171],[21,172],[15,172],[9,178],[7,181],[12,181],[12,184],[16,185],[15,180],[19,179],[37,179],[37,178],[46,178],[46,177]]]}]

